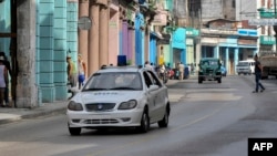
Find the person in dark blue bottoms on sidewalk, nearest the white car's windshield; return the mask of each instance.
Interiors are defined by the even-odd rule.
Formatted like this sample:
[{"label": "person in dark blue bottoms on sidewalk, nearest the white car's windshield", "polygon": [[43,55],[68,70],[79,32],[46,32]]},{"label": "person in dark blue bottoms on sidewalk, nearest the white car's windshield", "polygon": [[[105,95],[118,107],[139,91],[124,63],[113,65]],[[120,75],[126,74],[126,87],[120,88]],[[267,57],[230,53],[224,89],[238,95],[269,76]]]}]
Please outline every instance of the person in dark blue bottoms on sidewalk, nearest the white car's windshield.
[{"label": "person in dark blue bottoms on sidewalk, nearest the white car's windshield", "polygon": [[78,55],[78,84],[79,90],[84,85],[86,65],[82,59],[82,55]]}]

